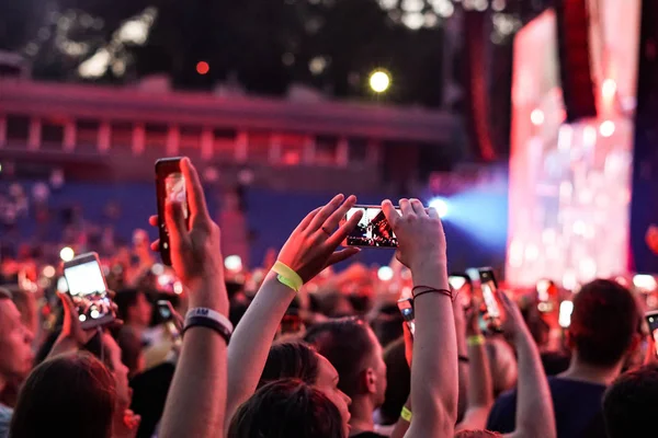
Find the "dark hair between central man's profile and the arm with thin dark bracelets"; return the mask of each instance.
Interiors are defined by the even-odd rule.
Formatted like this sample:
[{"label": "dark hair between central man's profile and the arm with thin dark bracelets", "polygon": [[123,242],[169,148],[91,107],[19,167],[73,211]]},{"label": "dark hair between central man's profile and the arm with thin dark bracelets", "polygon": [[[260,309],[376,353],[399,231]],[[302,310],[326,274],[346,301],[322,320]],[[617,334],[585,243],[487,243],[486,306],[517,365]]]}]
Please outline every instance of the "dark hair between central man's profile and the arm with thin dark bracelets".
[{"label": "dark hair between central man's profile and the arm with thin dark bracelets", "polygon": [[395,424],[411,392],[411,371],[405,356],[405,339],[393,342],[384,350],[386,364],[386,393],[379,408],[384,424]]}]

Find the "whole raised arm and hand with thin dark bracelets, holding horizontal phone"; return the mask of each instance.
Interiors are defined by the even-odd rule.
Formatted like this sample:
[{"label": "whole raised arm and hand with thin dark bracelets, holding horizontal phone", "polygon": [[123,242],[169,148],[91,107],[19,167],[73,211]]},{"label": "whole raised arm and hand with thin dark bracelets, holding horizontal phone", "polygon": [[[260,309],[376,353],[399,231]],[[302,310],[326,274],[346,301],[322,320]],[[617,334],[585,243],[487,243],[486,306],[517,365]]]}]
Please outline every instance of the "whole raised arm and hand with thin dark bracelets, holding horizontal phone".
[{"label": "whole raised arm and hand with thin dark bracelets, holding horizontal phone", "polygon": [[[398,237],[398,260],[409,266],[415,286],[450,290],[445,235],[433,208],[400,200],[401,216],[390,201],[382,205]],[[411,366],[413,417],[408,437],[451,437],[457,416],[457,344],[452,301],[442,293],[415,300],[416,337]]]}]

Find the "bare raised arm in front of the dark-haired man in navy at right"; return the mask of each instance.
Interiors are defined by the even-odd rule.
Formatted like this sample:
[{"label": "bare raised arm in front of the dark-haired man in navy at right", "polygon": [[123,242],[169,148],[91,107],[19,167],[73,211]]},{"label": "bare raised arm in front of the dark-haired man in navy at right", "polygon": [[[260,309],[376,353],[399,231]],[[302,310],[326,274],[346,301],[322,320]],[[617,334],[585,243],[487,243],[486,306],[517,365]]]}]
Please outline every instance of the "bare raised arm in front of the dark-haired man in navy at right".
[{"label": "bare raised arm in front of the dark-haired man in navy at right", "polygon": [[510,438],[556,438],[553,397],[542,367],[540,351],[523,322],[519,308],[504,295],[499,299],[506,311],[506,332],[513,335],[519,355],[517,429]]}]

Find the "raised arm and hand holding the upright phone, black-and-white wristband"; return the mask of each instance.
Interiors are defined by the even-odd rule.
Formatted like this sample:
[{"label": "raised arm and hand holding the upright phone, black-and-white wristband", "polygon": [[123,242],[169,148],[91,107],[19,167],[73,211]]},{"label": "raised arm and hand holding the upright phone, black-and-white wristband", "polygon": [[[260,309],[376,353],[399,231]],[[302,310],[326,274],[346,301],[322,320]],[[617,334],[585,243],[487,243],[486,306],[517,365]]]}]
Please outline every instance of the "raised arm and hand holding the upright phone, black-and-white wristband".
[{"label": "raised arm and hand holding the upright phone, black-and-white wristband", "polygon": [[[188,183],[190,223],[188,230],[182,206],[168,200],[167,228],[172,265],[190,291],[190,306],[228,314],[224,284],[224,261],[219,228],[209,217],[196,170],[189,159],[181,162]],[[157,224],[157,217],[151,218]],[[154,243],[151,247],[157,247]],[[226,407],[226,342],[215,331],[193,326],[183,338],[159,436],[218,437],[224,431]]]}]

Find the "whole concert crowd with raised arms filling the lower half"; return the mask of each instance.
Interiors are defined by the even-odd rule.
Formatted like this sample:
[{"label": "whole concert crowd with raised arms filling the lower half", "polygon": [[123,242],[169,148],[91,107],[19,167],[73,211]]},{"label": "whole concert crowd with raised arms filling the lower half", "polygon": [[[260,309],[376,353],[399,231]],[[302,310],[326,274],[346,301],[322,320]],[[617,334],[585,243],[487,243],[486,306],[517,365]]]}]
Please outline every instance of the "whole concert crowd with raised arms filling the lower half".
[{"label": "whole concert crowd with raised arms filling the lower half", "polygon": [[[362,219],[344,220],[356,199],[343,195],[300,218],[262,268],[227,267],[230,230],[211,219],[192,163],[181,168],[190,218],[167,203],[172,269],[139,234],[134,263],[106,273],[116,321],[84,330],[58,268],[49,283],[4,275],[0,437],[650,434],[655,344],[645,303],[620,281],[569,296],[561,326],[557,288],[542,300],[497,290],[494,331],[477,283],[451,286],[441,219],[417,199],[382,204],[398,244],[390,275],[333,272],[370,251],[339,249]],[[413,333],[400,297],[413,299]]]}]

